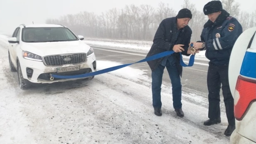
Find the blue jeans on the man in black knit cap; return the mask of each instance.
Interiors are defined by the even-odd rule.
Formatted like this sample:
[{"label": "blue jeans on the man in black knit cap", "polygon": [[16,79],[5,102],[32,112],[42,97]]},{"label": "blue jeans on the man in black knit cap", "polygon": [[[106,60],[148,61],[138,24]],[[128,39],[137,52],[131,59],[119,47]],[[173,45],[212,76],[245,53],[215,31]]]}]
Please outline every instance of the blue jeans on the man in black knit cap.
[{"label": "blue jeans on the man in black knit cap", "polygon": [[[152,97],[153,97],[153,107],[161,108],[161,85],[164,73],[164,66],[159,65],[156,70],[152,71]],[[180,109],[182,107],[181,103],[181,78],[177,66],[170,65],[167,60],[166,68],[169,73],[172,85],[172,100],[174,109]]]}]

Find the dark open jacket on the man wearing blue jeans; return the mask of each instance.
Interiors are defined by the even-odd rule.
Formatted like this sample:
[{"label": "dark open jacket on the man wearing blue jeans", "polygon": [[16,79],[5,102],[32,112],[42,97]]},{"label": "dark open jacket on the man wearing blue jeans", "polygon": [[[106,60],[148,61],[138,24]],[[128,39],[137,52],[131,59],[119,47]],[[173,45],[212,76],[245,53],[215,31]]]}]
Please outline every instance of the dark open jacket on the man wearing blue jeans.
[{"label": "dark open jacket on the man wearing blue jeans", "polygon": [[[153,39],[153,44],[151,46],[150,51],[147,53],[147,56],[153,56],[157,53],[161,53],[164,51],[171,51],[173,49],[173,46],[175,44],[172,44],[171,41],[174,38],[174,34],[178,31],[176,28],[176,17],[171,17],[164,19],[160,24],[159,27],[155,33],[155,37]],[[190,43],[192,35],[192,30],[189,26],[186,26],[181,29],[181,32],[179,33],[178,39],[176,41],[176,44],[184,44],[182,46],[185,51],[182,52],[183,55],[190,56],[187,54],[188,51],[188,44]],[[174,40],[175,42],[175,40]],[[182,76],[182,66],[180,65],[180,53],[174,53],[174,57],[176,59],[176,66],[178,67],[180,76]],[[148,65],[150,66],[150,69],[154,71],[157,66],[160,64],[163,58],[159,58],[156,60],[148,61]]]}]

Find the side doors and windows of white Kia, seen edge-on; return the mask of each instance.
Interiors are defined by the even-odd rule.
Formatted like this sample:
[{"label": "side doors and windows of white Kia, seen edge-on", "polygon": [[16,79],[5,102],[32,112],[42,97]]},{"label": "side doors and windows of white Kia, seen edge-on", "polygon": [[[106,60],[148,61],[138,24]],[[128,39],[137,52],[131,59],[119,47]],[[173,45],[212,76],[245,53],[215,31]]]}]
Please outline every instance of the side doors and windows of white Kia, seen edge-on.
[{"label": "side doors and windows of white Kia, seen edge-on", "polygon": [[17,61],[17,49],[19,49],[20,47],[20,28],[16,29],[16,32],[14,33],[13,37],[16,37],[18,42],[15,44],[10,44],[10,49],[12,51],[12,63],[15,67],[17,67],[17,63],[15,62]]}]

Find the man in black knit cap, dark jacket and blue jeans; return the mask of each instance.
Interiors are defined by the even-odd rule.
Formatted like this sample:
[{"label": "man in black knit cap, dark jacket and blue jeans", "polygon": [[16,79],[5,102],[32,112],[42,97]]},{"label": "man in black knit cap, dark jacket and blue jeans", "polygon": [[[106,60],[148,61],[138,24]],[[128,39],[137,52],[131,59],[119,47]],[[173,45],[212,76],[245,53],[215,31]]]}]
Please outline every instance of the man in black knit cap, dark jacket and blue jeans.
[{"label": "man in black knit cap, dark jacket and blue jeans", "polygon": [[152,70],[152,101],[155,115],[157,116],[162,116],[161,85],[165,67],[167,67],[171,79],[173,107],[177,116],[184,116],[181,109],[180,76],[182,75],[182,66],[179,60],[180,52],[186,56],[194,54],[190,50],[188,51],[192,30],[187,25],[191,19],[192,14],[188,9],[181,9],[176,17],[164,19],[160,23],[155,33],[151,49],[147,53],[148,57],[164,51],[173,50],[175,52],[170,56],[147,62]]}]

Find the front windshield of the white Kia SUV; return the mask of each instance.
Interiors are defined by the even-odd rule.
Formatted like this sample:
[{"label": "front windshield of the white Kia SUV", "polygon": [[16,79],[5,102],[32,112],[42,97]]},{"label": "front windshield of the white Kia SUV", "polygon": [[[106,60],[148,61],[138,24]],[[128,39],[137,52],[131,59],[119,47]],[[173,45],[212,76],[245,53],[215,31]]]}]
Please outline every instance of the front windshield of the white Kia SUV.
[{"label": "front windshield of the white Kia SUV", "polygon": [[62,42],[79,40],[68,28],[23,28],[23,42]]}]

